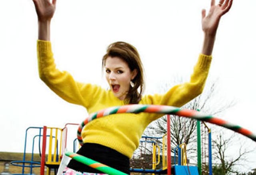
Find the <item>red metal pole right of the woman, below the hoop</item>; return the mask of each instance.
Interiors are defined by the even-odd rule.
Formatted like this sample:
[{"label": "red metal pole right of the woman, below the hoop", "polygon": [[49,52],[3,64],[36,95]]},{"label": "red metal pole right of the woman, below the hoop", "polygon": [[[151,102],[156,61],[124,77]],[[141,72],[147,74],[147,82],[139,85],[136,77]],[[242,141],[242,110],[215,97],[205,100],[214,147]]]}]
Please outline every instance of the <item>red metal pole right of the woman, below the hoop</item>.
[{"label": "red metal pole right of the woman, below the hoop", "polygon": [[171,120],[167,115],[167,175],[172,175],[172,157],[171,157]]}]

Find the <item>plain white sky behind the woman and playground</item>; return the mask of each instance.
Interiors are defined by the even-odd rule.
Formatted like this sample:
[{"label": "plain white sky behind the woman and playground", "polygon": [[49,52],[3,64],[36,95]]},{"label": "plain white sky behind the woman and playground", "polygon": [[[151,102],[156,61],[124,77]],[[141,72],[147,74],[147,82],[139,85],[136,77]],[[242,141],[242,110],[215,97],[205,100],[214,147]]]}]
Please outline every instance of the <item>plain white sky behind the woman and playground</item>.
[{"label": "plain white sky behind the woman and playground", "polygon": [[[173,75],[189,79],[202,47],[201,10],[209,6],[210,0],[57,0],[56,64],[79,81],[106,86],[102,55],[110,43],[126,41],[140,52],[147,91],[158,92],[156,84]],[[255,0],[234,0],[220,21],[208,78],[218,78],[223,98],[237,102],[222,117],[254,133],[255,9]],[[80,123],[86,110],[60,99],[38,77],[32,0],[0,0],[0,19],[0,151],[22,152],[29,126]]]}]

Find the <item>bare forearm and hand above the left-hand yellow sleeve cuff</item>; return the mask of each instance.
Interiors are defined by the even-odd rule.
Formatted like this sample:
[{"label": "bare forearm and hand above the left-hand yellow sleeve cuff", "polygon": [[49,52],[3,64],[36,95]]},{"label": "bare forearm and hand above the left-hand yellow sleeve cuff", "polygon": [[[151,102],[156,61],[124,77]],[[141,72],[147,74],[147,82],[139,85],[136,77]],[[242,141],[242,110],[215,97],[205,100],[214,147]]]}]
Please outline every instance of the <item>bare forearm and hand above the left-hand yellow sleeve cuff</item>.
[{"label": "bare forearm and hand above the left-hand yellow sleeve cuff", "polygon": [[33,0],[38,17],[38,39],[50,41],[50,22],[56,8],[56,0]]}]

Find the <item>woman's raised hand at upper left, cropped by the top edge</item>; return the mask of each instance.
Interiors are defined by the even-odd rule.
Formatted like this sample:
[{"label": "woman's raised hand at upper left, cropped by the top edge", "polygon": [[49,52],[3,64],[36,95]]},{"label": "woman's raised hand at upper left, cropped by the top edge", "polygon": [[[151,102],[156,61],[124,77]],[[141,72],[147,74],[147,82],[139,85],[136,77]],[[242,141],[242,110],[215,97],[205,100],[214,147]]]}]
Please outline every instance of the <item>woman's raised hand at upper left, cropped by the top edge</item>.
[{"label": "woman's raised hand at upper left, cropped by the top edge", "polygon": [[49,22],[54,15],[56,0],[33,0],[39,22]]}]

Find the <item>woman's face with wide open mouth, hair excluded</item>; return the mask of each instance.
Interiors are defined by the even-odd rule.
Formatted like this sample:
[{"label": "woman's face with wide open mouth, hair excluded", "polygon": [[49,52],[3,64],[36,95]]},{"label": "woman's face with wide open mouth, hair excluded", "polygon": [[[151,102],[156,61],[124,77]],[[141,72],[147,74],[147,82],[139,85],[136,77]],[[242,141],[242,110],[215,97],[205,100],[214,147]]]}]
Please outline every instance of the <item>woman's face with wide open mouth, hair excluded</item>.
[{"label": "woman's face with wide open mouth, hair excluded", "polygon": [[124,100],[137,70],[131,71],[128,64],[119,57],[108,57],[105,61],[105,74],[114,96]]}]

